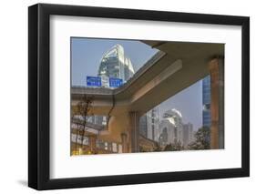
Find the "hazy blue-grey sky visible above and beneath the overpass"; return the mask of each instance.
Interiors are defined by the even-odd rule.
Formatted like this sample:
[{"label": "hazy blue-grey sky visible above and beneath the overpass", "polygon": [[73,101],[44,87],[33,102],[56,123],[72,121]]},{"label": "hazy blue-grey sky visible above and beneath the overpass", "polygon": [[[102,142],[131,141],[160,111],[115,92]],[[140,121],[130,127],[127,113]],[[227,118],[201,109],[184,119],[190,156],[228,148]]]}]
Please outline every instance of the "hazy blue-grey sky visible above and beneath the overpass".
[{"label": "hazy blue-grey sky visible above and beneath the overpass", "polygon": [[[143,66],[157,49],[134,40],[71,38],[72,86],[86,86],[87,76],[97,76],[101,57],[112,46],[124,47],[125,56],[129,57],[134,70]],[[171,108],[178,109],[184,123],[192,123],[194,130],[202,125],[202,88],[201,81],[182,90],[159,105],[159,117]]]}]

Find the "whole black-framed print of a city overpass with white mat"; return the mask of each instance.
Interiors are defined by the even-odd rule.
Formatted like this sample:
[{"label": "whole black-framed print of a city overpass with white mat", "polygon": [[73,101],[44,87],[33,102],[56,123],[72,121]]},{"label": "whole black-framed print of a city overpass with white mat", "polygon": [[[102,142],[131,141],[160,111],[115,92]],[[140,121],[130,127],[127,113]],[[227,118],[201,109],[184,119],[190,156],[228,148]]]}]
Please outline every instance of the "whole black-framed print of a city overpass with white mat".
[{"label": "whole black-framed print of a city overpass with white mat", "polygon": [[28,185],[250,174],[250,19],[28,8]]}]

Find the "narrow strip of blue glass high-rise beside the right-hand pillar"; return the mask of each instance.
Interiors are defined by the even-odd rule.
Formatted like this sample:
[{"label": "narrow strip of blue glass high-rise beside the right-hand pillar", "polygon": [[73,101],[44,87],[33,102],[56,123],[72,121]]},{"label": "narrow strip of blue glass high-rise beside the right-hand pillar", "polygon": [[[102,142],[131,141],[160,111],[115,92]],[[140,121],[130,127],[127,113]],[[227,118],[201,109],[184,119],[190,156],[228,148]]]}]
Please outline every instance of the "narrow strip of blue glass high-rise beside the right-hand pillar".
[{"label": "narrow strip of blue glass high-rise beside the right-hand pillar", "polygon": [[210,76],[202,80],[202,126],[210,128]]}]

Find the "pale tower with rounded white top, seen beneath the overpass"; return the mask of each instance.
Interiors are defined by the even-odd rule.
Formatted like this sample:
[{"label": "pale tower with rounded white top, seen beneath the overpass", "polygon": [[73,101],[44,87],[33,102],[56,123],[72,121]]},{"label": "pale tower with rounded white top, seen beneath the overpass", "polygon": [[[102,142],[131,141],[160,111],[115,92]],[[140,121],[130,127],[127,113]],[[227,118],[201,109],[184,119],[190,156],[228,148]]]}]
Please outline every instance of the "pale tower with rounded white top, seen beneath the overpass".
[{"label": "pale tower with rounded white top, seen beneath the overpass", "polygon": [[172,108],[163,115],[163,120],[159,124],[159,138],[162,137],[163,131],[166,128],[168,134],[169,143],[180,143],[183,144],[183,124],[182,115],[179,110]]}]

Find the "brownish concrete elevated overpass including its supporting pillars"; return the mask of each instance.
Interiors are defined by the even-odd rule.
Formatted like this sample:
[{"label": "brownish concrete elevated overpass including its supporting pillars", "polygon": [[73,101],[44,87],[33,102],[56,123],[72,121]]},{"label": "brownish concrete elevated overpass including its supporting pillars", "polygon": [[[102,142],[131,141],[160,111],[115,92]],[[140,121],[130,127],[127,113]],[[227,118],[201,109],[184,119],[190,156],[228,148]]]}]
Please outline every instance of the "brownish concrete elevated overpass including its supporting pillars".
[{"label": "brownish concrete elevated overpass including its supporting pillars", "polygon": [[[83,96],[92,97],[92,107],[88,115],[110,116],[108,130],[99,133],[98,138],[106,141],[118,142],[123,145],[123,152],[138,151],[138,120],[148,110],[156,107],[161,102],[191,86],[203,77],[216,71],[220,66],[210,68],[212,59],[223,61],[224,45],[207,43],[181,43],[143,41],[148,46],[157,47],[160,51],[148,62],[138,69],[138,72],[126,84],[117,89],[108,88],[71,88],[72,114],[77,114],[76,106]],[[223,68],[223,62],[221,63]],[[219,108],[220,76],[212,77],[211,82],[216,83],[211,93],[214,107],[213,115],[221,112]],[[223,77],[223,75],[222,75]],[[222,88],[223,89],[223,88]],[[218,94],[217,94],[218,93]],[[221,96],[221,97],[222,97]],[[217,100],[218,98],[218,100]],[[215,114],[215,126],[212,128],[211,140],[219,138],[219,117],[222,112]],[[222,125],[223,123],[221,123]],[[218,137],[217,137],[218,136]],[[223,138],[223,137],[222,137]],[[212,148],[219,148],[218,142]]]}]

